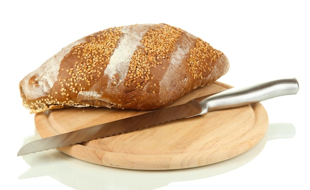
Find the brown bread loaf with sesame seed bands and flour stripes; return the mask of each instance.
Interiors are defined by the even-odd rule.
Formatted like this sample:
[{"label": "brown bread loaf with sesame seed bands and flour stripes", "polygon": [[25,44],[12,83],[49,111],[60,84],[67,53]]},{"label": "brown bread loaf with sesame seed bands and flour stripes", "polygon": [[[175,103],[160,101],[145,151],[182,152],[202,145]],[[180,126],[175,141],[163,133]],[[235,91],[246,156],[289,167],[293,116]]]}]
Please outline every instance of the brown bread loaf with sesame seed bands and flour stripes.
[{"label": "brown bread loaf with sesame seed bands and flour stripes", "polygon": [[20,82],[31,113],[64,107],[151,110],[228,71],[225,55],[167,24],[108,28],[63,48]]}]

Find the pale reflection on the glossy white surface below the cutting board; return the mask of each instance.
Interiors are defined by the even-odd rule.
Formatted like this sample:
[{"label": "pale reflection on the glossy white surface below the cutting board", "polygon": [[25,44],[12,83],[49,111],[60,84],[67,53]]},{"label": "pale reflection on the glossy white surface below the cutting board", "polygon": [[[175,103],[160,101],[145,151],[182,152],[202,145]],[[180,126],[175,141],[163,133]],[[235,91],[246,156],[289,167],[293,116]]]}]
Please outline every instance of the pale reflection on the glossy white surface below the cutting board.
[{"label": "pale reflection on the glossy white surface below the cutting board", "polygon": [[[235,158],[203,167],[168,171],[110,168],[75,159],[53,149],[23,156],[31,168],[19,179],[50,176],[65,186],[79,190],[154,190],[172,182],[204,179],[232,171],[253,160],[267,140],[292,138],[294,135],[292,124],[270,124],[266,135],[255,147]],[[38,137],[28,137],[25,141],[35,138]]]}]

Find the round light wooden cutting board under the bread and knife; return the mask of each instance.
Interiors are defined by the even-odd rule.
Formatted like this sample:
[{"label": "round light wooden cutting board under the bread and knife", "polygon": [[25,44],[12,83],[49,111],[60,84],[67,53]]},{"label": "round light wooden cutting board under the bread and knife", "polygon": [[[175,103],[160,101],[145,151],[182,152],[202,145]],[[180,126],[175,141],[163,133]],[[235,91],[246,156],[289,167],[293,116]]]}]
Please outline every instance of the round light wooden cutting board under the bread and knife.
[{"label": "round light wooden cutting board under the bread and knife", "polygon": [[[231,86],[214,82],[173,105]],[[35,115],[42,137],[99,125],[145,111],[66,108]],[[171,170],[213,164],[238,156],[264,136],[268,117],[260,103],[209,112],[132,132],[58,148],[72,157],[104,166],[137,170]]]}]

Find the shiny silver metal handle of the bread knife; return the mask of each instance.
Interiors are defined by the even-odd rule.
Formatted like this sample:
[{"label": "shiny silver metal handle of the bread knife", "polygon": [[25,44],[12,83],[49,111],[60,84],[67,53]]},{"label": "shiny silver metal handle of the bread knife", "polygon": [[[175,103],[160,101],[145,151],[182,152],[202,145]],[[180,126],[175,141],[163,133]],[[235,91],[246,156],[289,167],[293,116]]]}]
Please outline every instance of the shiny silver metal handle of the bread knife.
[{"label": "shiny silver metal handle of the bread knife", "polygon": [[299,84],[296,78],[268,81],[245,88],[230,88],[199,102],[203,111],[200,115],[214,110],[236,108],[270,98],[296,94]]}]

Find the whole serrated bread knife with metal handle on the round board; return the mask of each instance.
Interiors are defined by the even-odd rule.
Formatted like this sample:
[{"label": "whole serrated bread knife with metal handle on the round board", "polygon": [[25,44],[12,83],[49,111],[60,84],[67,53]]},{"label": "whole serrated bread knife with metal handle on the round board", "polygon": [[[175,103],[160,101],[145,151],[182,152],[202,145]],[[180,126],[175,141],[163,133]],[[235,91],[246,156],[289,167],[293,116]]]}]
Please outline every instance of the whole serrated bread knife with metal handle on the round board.
[{"label": "whole serrated bread knife with metal handle on the round board", "polygon": [[186,104],[35,140],[25,144],[17,156],[205,115],[210,111],[241,107],[278,96],[296,94],[298,90],[296,78],[273,80],[245,88],[230,88],[211,96],[193,99]]}]

